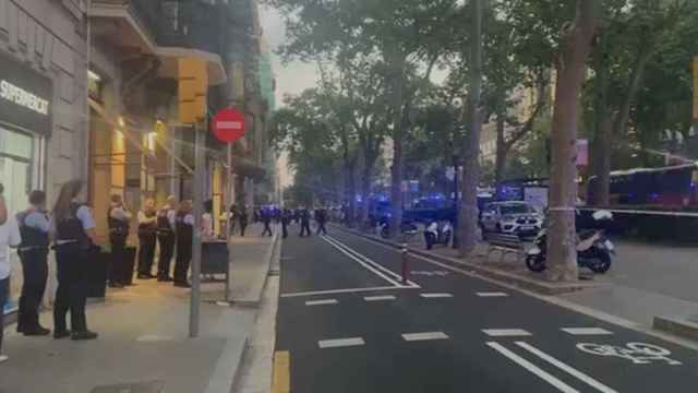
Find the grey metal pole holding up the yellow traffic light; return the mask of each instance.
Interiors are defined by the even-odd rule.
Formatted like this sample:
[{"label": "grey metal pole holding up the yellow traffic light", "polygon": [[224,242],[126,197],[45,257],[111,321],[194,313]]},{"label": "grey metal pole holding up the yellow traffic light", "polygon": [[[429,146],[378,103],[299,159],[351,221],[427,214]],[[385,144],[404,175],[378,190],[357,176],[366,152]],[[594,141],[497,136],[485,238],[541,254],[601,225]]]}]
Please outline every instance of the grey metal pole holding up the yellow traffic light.
[{"label": "grey metal pole holding up the yellow traffic light", "polygon": [[201,307],[201,219],[204,210],[203,192],[204,192],[204,141],[206,120],[204,120],[204,131],[198,131],[198,123],[194,123],[194,181],[193,181],[193,202],[194,205],[194,230],[192,239],[192,291],[191,305],[189,313],[189,336],[195,338],[198,336],[200,307]]}]

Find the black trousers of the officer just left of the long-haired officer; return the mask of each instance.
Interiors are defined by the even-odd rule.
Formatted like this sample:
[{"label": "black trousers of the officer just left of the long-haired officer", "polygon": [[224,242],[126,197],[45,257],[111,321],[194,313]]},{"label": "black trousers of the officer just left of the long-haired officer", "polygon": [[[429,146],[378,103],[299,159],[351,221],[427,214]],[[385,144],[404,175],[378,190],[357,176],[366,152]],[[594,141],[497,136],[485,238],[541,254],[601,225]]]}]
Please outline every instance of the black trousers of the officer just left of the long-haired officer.
[{"label": "black trousers of the officer just left of the long-haired officer", "polygon": [[17,313],[17,332],[39,327],[39,306],[46,291],[48,278],[48,248],[20,251],[22,261],[22,295]]}]

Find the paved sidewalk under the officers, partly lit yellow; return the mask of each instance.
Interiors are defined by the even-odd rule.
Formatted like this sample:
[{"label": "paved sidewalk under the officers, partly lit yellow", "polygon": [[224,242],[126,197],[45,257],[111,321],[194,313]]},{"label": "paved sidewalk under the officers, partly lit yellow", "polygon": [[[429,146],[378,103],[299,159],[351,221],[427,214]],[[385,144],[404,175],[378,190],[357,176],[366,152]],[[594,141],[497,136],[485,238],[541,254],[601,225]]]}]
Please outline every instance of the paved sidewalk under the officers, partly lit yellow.
[{"label": "paved sidewalk under the officers, partly lit yellow", "polygon": [[[274,245],[258,237],[231,240],[233,266],[237,260],[260,266],[232,276],[233,286],[239,281],[264,282],[269,266],[264,259],[275,254]],[[257,310],[204,301],[201,334],[192,340],[189,289],[155,281],[136,284],[109,290],[103,302],[88,303],[89,329],[99,333],[96,341],[24,337],[9,325],[3,346],[10,360],[0,365],[0,392],[228,393]],[[202,285],[203,297],[209,300],[222,289],[221,283]],[[51,320],[50,313],[41,315],[48,327]]]}]

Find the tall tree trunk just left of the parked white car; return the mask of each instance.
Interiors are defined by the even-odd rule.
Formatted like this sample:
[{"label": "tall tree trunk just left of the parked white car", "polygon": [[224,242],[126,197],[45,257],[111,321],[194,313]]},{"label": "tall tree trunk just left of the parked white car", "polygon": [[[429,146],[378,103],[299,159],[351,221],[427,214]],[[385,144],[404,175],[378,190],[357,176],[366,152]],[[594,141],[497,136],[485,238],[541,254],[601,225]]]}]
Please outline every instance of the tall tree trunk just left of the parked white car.
[{"label": "tall tree trunk just left of the parked white car", "polygon": [[469,255],[476,248],[478,227],[478,183],[480,182],[480,95],[482,90],[482,0],[472,0],[472,47],[470,56],[470,91],[468,121],[470,127],[464,141],[462,200],[458,217],[458,251]]}]

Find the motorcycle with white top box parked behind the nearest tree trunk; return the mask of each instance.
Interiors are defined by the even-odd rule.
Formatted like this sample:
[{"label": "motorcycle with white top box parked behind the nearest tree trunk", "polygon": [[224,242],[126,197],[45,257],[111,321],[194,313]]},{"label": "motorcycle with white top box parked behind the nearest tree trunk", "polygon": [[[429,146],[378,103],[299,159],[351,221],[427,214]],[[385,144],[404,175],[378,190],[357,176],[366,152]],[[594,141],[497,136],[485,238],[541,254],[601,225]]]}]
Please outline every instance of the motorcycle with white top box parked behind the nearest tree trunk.
[{"label": "motorcycle with white top box parked behind the nearest tree trunk", "polygon": [[[613,214],[609,211],[598,211],[592,214],[594,221],[601,223],[612,219]],[[578,234],[577,241],[577,264],[580,267],[588,267],[594,273],[605,273],[611,269],[615,247],[605,237],[603,229],[583,230]],[[535,237],[534,246],[527,251],[526,266],[540,273],[544,271],[547,261],[547,231],[542,229]]]}]

